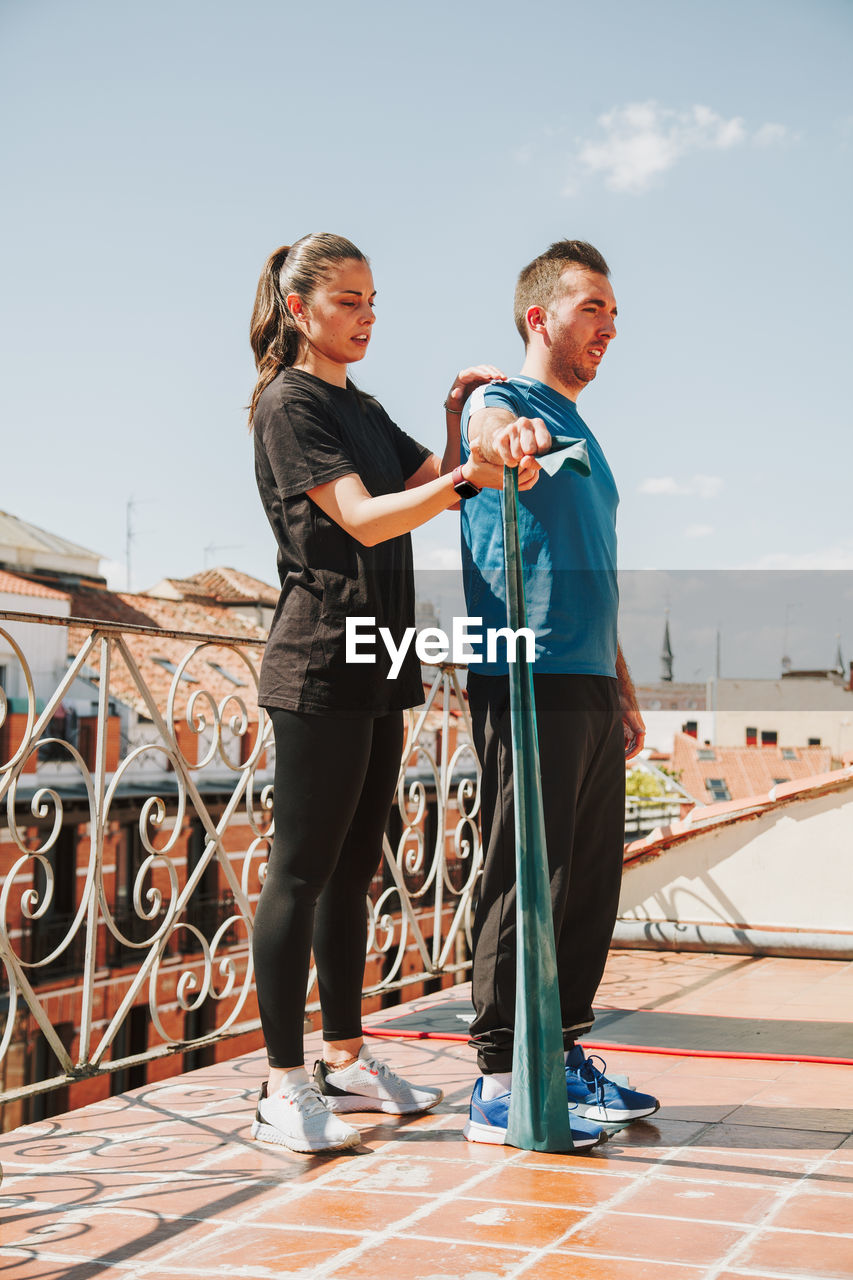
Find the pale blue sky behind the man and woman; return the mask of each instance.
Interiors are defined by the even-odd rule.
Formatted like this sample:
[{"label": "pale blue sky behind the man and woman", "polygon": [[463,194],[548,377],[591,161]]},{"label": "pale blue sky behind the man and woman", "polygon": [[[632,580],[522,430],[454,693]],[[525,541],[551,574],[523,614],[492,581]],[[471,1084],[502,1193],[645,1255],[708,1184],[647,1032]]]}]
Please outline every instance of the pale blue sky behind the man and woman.
[{"label": "pale blue sky behind the man and woman", "polygon": [[[849,0],[0,0],[0,508],[115,588],[128,504],[134,590],[274,580],[245,413],[268,253],[368,253],[357,381],[441,449],[456,370],[520,366],[519,269],[576,237],[620,312],[579,408],[676,658],[690,575],[853,571],[852,36]],[[853,650],[853,572],[825,580],[822,611],[771,593],[795,666]]]}]

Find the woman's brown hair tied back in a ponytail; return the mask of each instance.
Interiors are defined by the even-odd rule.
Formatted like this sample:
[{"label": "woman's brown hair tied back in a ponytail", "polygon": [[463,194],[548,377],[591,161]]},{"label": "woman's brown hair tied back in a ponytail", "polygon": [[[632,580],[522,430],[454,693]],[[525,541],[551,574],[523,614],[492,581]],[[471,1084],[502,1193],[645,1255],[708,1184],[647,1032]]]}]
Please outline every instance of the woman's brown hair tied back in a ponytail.
[{"label": "woman's brown hair tied back in a ponytail", "polygon": [[352,261],[368,260],[348,239],[329,232],[304,236],[292,246],[282,244],[266,259],[257,282],[250,328],[257,369],[257,383],[248,406],[250,430],[261,393],[279,370],[292,365],[298,355],[300,330],[286,302],[287,294],[298,293],[304,302],[310,302],[330,269]]}]

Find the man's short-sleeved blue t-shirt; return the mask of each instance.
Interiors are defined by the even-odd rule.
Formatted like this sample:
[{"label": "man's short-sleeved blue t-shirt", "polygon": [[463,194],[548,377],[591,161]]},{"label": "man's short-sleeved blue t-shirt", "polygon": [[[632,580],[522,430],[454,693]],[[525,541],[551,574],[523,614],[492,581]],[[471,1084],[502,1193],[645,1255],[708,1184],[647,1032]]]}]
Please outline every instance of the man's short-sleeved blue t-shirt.
[{"label": "man's short-sleeved blue t-shirt", "polygon": [[[528,626],[537,637],[534,673],[616,675],[616,507],[619,493],[598,440],[575,404],[532,378],[478,388],[462,415],[462,457],[470,453],[467,421],[480,408],[508,408],[540,417],[552,435],[587,442],[590,474],[562,470],[519,494],[519,539]],[[483,628],[507,626],[501,493],[484,489],[462,502],[462,575],[469,617]],[[479,630],[479,627],[478,627]],[[506,675],[498,662],[473,663],[484,676]]]}]

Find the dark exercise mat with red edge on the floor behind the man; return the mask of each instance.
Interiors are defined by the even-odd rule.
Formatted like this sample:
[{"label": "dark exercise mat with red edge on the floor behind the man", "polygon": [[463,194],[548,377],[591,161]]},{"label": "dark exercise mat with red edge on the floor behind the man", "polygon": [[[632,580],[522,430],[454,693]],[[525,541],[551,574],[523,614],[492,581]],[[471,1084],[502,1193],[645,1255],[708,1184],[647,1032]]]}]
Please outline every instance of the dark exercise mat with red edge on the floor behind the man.
[{"label": "dark exercise mat with red edge on the floor behind the man", "polygon": [[[421,1032],[466,1038],[474,1010],[466,1000],[401,1014],[369,1030]],[[596,1025],[584,1037],[593,1043],[637,1048],[675,1048],[706,1053],[774,1053],[784,1057],[853,1059],[853,1023],[807,1023],[783,1019],[710,1018],[656,1010],[597,1009]]]}]

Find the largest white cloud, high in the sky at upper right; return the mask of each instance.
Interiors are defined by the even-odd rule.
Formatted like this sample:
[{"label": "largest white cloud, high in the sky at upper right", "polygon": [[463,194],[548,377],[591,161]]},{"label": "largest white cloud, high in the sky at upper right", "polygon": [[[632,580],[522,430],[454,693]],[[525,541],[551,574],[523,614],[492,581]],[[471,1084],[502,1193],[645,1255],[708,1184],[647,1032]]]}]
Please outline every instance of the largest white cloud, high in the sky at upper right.
[{"label": "largest white cloud, high in the sky at upper right", "polygon": [[697,104],[676,111],[660,102],[629,102],[598,116],[603,137],[581,142],[575,160],[601,174],[611,191],[640,192],[693,151],[730,151],[753,142],[774,146],[790,134],[784,124],[767,123],[752,133],[739,115],[729,119]]}]

